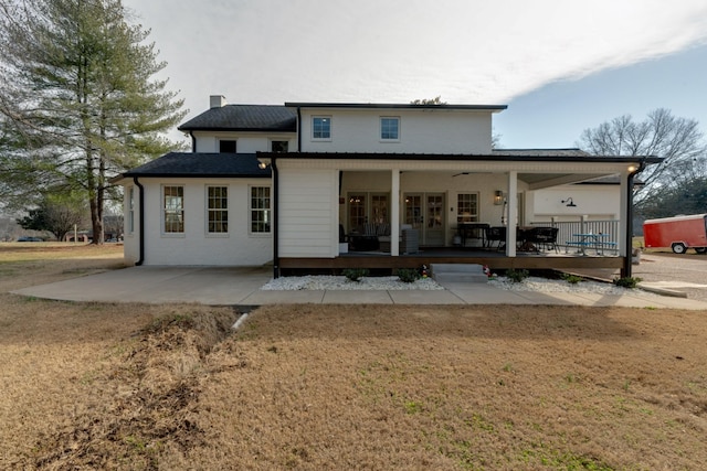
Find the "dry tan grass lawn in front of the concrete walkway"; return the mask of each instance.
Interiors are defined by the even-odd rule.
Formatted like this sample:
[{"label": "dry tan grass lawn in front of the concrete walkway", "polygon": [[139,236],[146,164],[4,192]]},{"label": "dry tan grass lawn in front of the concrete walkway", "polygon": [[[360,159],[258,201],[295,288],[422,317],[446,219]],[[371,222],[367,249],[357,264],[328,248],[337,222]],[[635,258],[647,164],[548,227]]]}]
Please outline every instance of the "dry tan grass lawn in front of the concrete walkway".
[{"label": "dry tan grass lawn in front of the concrete walkway", "polygon": [[2,469],[707,462],[700,312],[275,306],[231,333],[230,308],[0,298]]}]

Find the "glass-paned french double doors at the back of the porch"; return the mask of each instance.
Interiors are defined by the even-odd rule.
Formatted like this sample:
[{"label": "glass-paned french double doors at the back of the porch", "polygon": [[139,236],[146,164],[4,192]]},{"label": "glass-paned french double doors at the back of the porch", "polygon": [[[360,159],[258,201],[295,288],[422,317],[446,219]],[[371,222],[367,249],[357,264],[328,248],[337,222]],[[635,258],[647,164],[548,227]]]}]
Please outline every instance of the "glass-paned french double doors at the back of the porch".
[{"label": "glass-paned french double doors at the back of the porch", "polygon": [[419,231],[420,245],[444,246],[444,193],[407,193],[405,224]]}]

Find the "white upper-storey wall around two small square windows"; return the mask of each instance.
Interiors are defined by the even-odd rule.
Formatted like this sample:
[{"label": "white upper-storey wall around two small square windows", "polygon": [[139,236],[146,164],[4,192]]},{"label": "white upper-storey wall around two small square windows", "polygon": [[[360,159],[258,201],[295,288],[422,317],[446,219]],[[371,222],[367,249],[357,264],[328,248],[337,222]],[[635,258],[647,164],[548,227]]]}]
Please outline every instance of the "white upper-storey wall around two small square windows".
[{"label": "white upper-storey wall around two small square windows", "polygon": [[[331,117],[331,139],[312,139],[312,117]],[[400,117],[400,140],[380,139],[380,118]],[[303,109],[304,152],[489,153],[492,113],[451,109]]]}]

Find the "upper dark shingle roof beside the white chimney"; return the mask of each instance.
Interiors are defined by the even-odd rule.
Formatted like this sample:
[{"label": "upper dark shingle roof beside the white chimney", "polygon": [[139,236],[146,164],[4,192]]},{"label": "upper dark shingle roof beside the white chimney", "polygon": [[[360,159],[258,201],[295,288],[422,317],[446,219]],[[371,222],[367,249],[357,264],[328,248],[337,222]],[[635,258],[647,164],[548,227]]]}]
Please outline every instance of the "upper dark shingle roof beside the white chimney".
[{"label": "upper dark shingle roof beside the white chimney", "polygon": [[295,132],[295,110],[279,105],[225,105],[211,108],[178,128],[180,131]]}]

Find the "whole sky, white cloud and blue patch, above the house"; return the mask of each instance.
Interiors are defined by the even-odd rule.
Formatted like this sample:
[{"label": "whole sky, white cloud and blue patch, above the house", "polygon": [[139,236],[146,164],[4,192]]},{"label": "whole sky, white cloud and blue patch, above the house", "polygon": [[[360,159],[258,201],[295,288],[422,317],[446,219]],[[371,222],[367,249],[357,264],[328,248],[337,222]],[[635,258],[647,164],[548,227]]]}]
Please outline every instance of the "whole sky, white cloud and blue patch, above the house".
[{"label": "whole sky, white cloud and blue patch, above the house", "polygon": [[[707,133],[705,0],[124,0],[187,118],[232,104],[508,105],[506,148],[663,107]],[[178,135],[175,135],[176,137]]]}]

